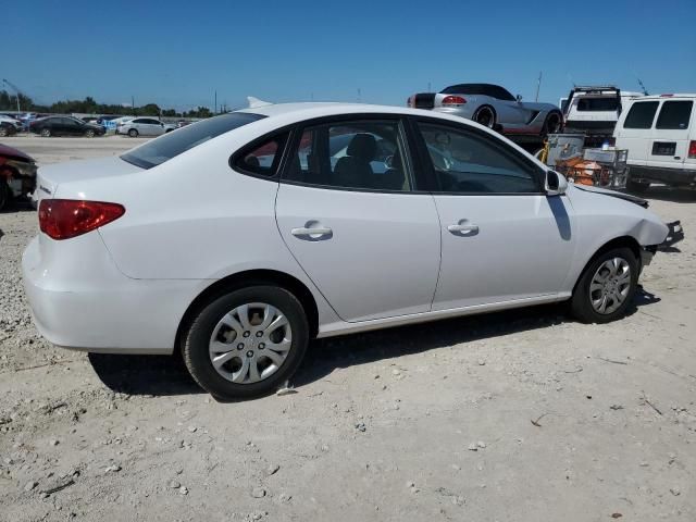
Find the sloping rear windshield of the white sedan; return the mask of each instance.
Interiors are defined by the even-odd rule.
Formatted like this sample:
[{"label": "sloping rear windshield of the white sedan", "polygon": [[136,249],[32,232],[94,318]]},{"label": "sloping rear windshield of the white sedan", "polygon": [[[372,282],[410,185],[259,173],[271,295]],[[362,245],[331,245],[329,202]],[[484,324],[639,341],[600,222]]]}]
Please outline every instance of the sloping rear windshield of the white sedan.
[{"label": "sloping rear windshield of the white sedan", "polygon": [[221,134],[264,117],[249,112],[232,112],[203,120],[153,139],[126,152],[121,159],[142,169],[151,169]]}]

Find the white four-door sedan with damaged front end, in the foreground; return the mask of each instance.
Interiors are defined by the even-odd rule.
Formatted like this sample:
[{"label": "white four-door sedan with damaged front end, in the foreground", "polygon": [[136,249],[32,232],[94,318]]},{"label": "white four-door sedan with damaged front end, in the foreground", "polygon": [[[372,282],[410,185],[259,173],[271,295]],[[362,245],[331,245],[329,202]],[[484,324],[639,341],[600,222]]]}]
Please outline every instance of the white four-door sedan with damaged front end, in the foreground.
[{"label": "white four-door sedan with damaged front end, in the foreground", "polygon": [[182,350],[217,397],[282,386],[315,337],[567,300],[619,319],[668,234],[638,198],[395,107],[247,109],[42,166],[38,186],[23,271],[41,334]]}]

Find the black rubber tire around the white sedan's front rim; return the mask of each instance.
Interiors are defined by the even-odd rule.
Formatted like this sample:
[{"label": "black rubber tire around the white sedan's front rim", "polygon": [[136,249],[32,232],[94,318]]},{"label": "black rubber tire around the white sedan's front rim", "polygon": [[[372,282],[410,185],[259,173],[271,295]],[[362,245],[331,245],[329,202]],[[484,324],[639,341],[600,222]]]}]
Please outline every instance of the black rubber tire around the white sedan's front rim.
[{"label": "black rubber tire around the white sedan's front rim", "polygon": [[[599,268],[606,261],[610,261],[614,258],[623,259],[629,264],[631,272],[629,274],[630,286],[627,288],[627,295],[617,310],[611,313],[599,313],[592,304],[589,287],[593,277]],[[583,323],[609,323],[622,318],[629,307],[632,306],[633,298],[635,297],[635,293],[638,287],[638,260],[630,248],[612,248],[595,256],[595,258],[585,268],[573,290],[573,296],[570,301],[572,314]]]}]

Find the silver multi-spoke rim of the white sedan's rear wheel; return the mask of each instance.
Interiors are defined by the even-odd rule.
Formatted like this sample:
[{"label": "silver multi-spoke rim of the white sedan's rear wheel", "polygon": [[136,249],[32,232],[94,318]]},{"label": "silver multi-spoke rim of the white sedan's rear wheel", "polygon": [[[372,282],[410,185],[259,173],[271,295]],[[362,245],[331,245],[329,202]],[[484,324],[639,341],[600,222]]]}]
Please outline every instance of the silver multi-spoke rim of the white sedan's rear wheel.
[{"label": "silver multi-spoke rim of the white sedan's rear wheel", "polygon": [[290,323],[277,308],[251,302],[226,313],[209,344],[215,371],[236,384],[252,384],[273,375],[293,345]]}]

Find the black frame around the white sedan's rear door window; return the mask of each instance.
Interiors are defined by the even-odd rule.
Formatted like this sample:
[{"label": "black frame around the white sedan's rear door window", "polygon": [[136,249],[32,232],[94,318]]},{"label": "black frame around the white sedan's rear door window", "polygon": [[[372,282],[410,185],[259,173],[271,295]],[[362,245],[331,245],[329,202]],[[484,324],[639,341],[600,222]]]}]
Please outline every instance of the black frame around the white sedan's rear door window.
[{"label": "black frame around the white sedan's rear door window", "polygon": [[[413,160],[413,151],[412,151],[412,140],[410,139],[409,136],[409,132],[408,132],[408,122],[407,122],[407,115],[406,114],[401,114],[401,113],[373,113],[373,112],[369,112],[369,113],[353,113],[353,114],[334,114],[334,115],[330,115],[330,116],[320,116],[320,117],[313,117],[311,120],[303,120],[301,122],[298,122],[295,124],[295,128],[293,129],[293,135],[290,136],[290,139],[288,140],[288,144],[285,147],[286,153],[284,154],[284,161],[281,164],[281,179],[279,183],[284,183],[287,185],[297,185],[300,187],[308,187],[308,188],[319,188],[319,189],[324,189],[324,190],[341,190],[341,191],[349,191],[349,192],[370,192],[370,194],[398,194],[398,195],[423,195],[423,194],[430,194],[428,190],[424,190],[421,188],[417,188],[420,187],[421,184],[418,181],[418,175],[417,172],[418,170],[414,169],[415,163]],[[409,190],[387,190],[387,189],[382,189],[382,188],[363,188],[363,187],[337,187],[335,185],[316,185],[313,183],[303,183],[303,182],[297,182],[294,179],[287,179],[287,174],[288,174],[288,169],[289,169],[289,164],[290,164],[290,156],[294,153],[294,151],[297,149],[297,147],[299,146],[299,142],[302,138],[302,134],[304,133],[304,129],[308,127],[314,127],[314,126],[319,126],[319,125],[331,125],[333,123],[341,123],[341,122],[347,122],[347,123],[360,123],[360,122],[396,122],[397,123],[397,128],[399,132],[399,137],[401,138],[401,142],[403,144],[403,166],[406,169],[406,175],[409,178],[410,182],[410,189]]]}]

